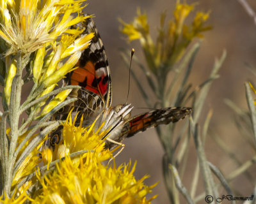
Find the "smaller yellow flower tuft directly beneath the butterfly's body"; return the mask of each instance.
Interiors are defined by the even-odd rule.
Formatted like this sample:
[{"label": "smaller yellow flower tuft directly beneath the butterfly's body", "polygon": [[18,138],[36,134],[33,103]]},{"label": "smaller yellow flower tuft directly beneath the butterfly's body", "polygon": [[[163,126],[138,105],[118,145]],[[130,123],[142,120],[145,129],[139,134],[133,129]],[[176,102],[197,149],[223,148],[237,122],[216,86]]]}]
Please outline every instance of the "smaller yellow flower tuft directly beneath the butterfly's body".
[{"label": "smaller yellow flower tuft directly beneath the butterfly's body", "polygon": [[[102,131],[99,133],[102,126],[99,129],[95,129],[95,122],[91,126],[87,128],[83,128],[83,117],[81,117],[80,125],[75,126],[77,115],[72,122],[71,112],[68,114],[66,122],[63,124],[63,136],[62,138],[58,138],[60,142],[58,145],[55,145],[54,149],[50,149],[45,147],[43,150],[44,154],[42,154],[42,160],[45,164],[51,163],[56,159],[61,159],[62,157],[68,156],[74,152],[78,152],[80,150],[88,150],[93,152],[101,152],[99,154],[100,161],[104,161],[109,159],[112,154],[111,152],[106,152],[104,150],[104,143],[101,138],[106,134],[106,131]],[[104,154],[102,154],[104,152]]]}]

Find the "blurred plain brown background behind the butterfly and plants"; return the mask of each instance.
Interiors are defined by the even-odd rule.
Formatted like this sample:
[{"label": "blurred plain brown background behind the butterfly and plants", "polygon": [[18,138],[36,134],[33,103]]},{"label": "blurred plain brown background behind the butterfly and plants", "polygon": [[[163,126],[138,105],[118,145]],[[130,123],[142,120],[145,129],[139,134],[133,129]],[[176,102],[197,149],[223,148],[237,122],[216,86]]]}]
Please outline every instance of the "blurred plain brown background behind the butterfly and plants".
[{"label": "blurred plain brown background behind the butterfly and plants", "polygon": [[[246,62],[256,66],[256,25],[253,19],[248,16],[244,8],[235,0],[198,0],[187,1],[188,3],[199,3],[196,10],[211,11],[209,24],[213,26],[211,31],[204,34],[204,42],[196,57],[194,71],[189,79],[193,84],[202,83],[209,75],[214,59],[220,57],[223,50],[227,50],[227,59],[220,70],[220,78],[212,84],[209,96],[204,105],[202,121],[210,108],[214,115],[211,120],[211,129],[223,138],[225,145],[236,152],[241,163],[250,159],[255,152],[248,147],[245,140],[241,138],[239,132],[234,126],[233,112],[223,103],[224,98],[232,99],[238,106],[247,108],[244,92],[244,82],[246,80],[255,81],[255,77],[246,69]],[[127,45],[124,36],[120,34],[118,28],[120,23],[117,18],[120,17],[125,22],[130,22],[136,15],[138,6],[141,10],[147,11],[148,22],[151,25],[150,32],[156,36],[156,28],[159,24],[159,15],[167,10],[172,14],[175,6],[173,0],[90,0],[86,11],[95,14],[95,23],[99,29],[100,35],[106,47],[106,52],[111,67],[113,80],[113,105],[124,103],[128,87],[128,71],[120,57],[118,48],[132,47],[136,50],[136,56],[145,62],[138,42],[132,42]],[[256,10],[256,1],[248,1],[252,8]],[[136,67],[135,63],[132,69],[136,71],[139,78],[144,78],[143,73]],[[137,71],[138,70],[138,71]],[[147,89],[147,83],[142,82]],[[135,107],[147,107],[138,91],[136,84],[131,80],[131,90],[129,94],[129,103]],[[135,110],[136,112],[136,110]],[[202,125],[202,124],[201,124]],[[153,193],[159,196],[152,203],[169,203],[168,195],[164,188],[162,176],[162,157],[163,149],[156,136],[154,129],[125,140],[124,151],[116,158],[116,163],[128,163],[131,158],[132,163],[138,161],[136,168],[136,178],[140,179],[143,175],[150,175],[150,179],[145,182],[152,185],[157,181],[160,183],[154,188]],[[189,157],[189,168],[184,176],[184,185],[190,190],[191,178],[195,169],[195,145],[191,140],[191,154]],[[236,169],[236,165],[228,159],[221,149],[211,138],[207,138],[205,144],[207,159],[218,166],[224,175],[228,175]],[[250,168],[253,173],[255,166]],[[190,174],[189,174],[190,173]],[[202,185],[198,188],[197,194],[202,193]],[[248,181],[245,177],[237,177],[230,184],[235,189],[237,195],[250,196],[252,194],[255,182]],[[225,191],[221,191],[226,194]],[[153,194],[152,194],[153,195]],[[204,201],[202,201],[204,203]]]}]

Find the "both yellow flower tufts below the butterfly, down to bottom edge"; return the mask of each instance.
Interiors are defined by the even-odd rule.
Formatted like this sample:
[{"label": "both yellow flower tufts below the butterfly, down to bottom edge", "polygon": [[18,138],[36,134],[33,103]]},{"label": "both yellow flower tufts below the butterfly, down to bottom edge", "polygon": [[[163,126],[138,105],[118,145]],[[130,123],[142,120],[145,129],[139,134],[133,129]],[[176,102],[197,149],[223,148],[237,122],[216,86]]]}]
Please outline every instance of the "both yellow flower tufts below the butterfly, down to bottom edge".
[{"label": "both yellow flower tufts below the butterfly, down to bottom edge", "polygon": [[[42,191],[33,203],[150,203],[156,196],[146,200],[145,195],[152,187],[145,186],[143,180],[134,179],[131,163],[113,168],[102,164],[111,159],[112,154],[104,149],[100,140],[105,131],[99,133],[94,124],[82,128],[76,127],[76,119],[72,122],[71,115],[63,124],[63,143],[56,145],[54,150],[46,148],[42,152],[45,164],[55,159],[66,157],[57,165],[57,170],[51,175],[40,177]],[[79,150],[88,150],[83,156],[70,159],[70,154]]]}]

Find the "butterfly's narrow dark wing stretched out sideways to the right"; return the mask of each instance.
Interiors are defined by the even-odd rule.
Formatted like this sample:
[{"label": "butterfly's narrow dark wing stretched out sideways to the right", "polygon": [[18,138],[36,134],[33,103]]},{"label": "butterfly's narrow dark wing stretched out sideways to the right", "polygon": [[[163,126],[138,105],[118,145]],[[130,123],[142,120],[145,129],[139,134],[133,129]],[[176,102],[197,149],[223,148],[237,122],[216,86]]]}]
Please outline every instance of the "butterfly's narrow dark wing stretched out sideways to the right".
[{"label": "butterfly's narrow dark wing stretched out sideways to the right", "polygon": [[[124,138],[131,137],[140,131],[145,131],[148,128],[154,128],[160,124],[169,124],[170,122],[178,122],[184,119],[192,112],[192,108],[172,107],[161,108],[146,113],[141,113],[135,117],[128,119],[121,133],[113,140],[122,142]],[[106,147],[111,149],[115,143],[106,143]]]}]

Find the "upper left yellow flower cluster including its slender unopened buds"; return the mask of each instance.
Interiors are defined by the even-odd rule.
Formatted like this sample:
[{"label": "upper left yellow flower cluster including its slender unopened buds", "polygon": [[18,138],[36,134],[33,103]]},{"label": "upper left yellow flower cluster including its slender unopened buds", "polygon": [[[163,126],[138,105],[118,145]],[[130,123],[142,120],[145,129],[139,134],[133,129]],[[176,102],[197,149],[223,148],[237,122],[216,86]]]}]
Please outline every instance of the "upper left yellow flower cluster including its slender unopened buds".
[{"label": "upper left yellow flower cluster including its slender unopened buds", "polygon": [[[90,45],[93,33],[80,36],[83,30],[70,29],[71,25],[90,17],[72,15],[81,13],[81,3],[74,0],[10,0],[0,3],[0,38],[3,40],[0,44],[7,45],[7,51],[4,52],[6,61],[10,61],[18,52],[22,59],[35,52],[31,73],[35,84],[44,89],[40,96],[51,92],[56,83],[74,69],[81,51]],[[12,80],[16,73],[17,59],[12,59],[6,69],[1,71],[1,77],[4,78],[4,101],[7,105],[10,103]],[[64,91],[56,96],[54,105],[60,104],[68,94],[68,91]],[[52,104],[45,107],[41,116],[51,109]]]}]

